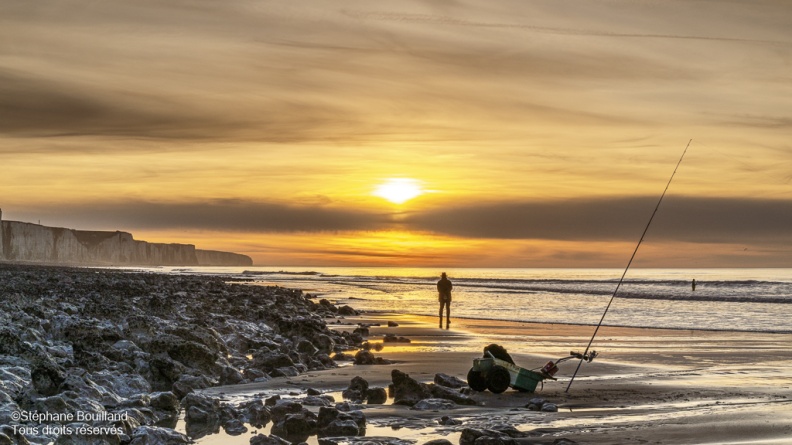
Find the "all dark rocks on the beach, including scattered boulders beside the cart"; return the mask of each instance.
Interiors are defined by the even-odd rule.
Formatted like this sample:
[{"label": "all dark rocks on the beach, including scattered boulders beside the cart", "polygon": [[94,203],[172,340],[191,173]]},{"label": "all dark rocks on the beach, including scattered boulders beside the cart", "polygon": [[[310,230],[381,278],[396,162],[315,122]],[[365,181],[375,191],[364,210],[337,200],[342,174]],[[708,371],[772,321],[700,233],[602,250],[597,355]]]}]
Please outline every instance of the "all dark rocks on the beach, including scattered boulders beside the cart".
[{"label": "all dark rocks on the beach, including scattered boulders beside the cart", "polygon": [[[456,377],[437,374],[427,384],[398,369],[388,388],[353,378],[342,401],[312,388],[236,400],[202,391],[275,377],[288,383],[337,361],[391,364],[371,350],[410,342],[394,334],[367,341],[367,324],[331,329],[328,322],[337,328],[354,309],[299,290],[219,276],[3,264],[0,296],[0,445],[177,445],[221,428],[250,434],[253,445],[311,436],[320,445],[407,445],[414,441],[366,436],[366,405],[393,399],[429,412],[479,405]],[[466,428],[449,416],[437,425],[461,431],[462,445],[525,437],[513,427]]]}]

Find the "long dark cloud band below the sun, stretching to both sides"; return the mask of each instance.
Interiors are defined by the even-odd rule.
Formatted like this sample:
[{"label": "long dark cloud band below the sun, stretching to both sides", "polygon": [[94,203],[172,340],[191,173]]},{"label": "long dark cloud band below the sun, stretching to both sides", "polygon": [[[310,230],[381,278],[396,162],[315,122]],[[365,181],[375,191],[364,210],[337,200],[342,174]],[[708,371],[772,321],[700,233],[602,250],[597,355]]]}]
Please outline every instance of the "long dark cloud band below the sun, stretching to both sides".
[{"label": "long dark cloud band below the sun, stretching to both sides", "polygon": [[[258,233],[406,230],[474,239],[637,242],[656,197],[489,203],[394,215],[246,200],[129,201],[29,209],[29,220],[107,230]],[[9,219],[7,216],[6,219]],[[692,243],[792,241],[789,200],[666,197],[647,240]]]}]

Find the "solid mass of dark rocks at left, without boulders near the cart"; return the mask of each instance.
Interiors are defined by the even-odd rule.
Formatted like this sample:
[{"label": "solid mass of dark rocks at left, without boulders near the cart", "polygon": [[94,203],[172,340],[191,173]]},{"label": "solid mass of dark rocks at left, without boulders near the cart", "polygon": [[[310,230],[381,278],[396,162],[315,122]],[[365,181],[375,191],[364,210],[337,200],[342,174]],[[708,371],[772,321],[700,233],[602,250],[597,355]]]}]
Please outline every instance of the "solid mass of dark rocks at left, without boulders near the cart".
[{"label": "solid mass of dark rocks at left, without boulders near the cart", "polygon": [[0,265],[0,444],[188,443],[195,390],[332,368],[362,340],[327,329],[327,301],[227,281]]}]

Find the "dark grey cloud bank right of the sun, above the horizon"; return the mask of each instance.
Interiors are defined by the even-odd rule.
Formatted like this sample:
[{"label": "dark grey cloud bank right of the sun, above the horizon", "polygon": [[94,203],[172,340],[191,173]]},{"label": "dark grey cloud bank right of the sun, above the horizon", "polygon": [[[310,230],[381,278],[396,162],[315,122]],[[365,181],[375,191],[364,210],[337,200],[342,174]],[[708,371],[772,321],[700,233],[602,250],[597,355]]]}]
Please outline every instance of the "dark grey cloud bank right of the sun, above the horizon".
[{"label": "dark grey cloud bank right of the sun, above the horizon", "polygon": [[[460,237],[637,242],[656,202],[656,197],[630,197],[483,204],[414,214],[404,223]],[[667,197],[647,236],[686,242],[791,240],[792,202]]]}]

